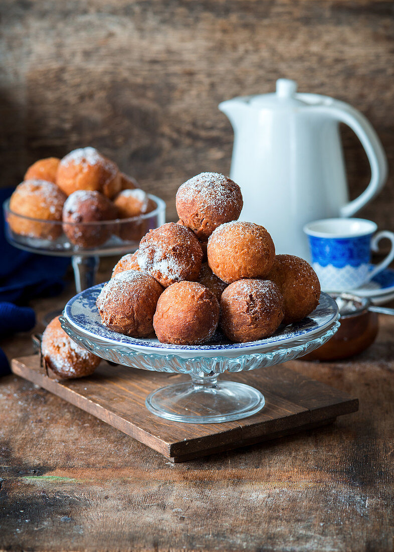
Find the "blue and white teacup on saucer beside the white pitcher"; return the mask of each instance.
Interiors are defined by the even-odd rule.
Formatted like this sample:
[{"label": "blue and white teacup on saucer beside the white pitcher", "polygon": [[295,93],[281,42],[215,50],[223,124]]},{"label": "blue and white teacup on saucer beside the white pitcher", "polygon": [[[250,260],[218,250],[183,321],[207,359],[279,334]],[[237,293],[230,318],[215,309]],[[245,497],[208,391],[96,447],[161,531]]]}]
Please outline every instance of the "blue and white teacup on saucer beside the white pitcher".
[{"label": "blue and white teacup on saucer beside the white pitcher", "polygon": [[[394,233],[377,232],[375,222],[364,219],[323,219],[309,222],[312,267],[325,291],[357,289],[384,270],[394,259]],[[379,251],[382,238],[391,240],[390,253],[371,270],[371,251]]]}]

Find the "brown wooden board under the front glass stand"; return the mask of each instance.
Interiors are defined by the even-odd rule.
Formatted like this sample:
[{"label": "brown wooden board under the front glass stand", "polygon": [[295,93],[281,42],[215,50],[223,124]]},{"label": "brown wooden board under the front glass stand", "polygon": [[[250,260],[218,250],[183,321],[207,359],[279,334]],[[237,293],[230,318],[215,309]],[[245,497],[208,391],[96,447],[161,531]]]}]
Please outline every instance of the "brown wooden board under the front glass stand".
[{"label": "brown wooden board under the front glass stand", "polygon": [[244,420],[215,424],[171,422],[145,407],[145,397],[151,391],[187,380],[188,376],[110,366],[102,361],[89,378],[58,381],[48,377],[39,355],[13,359],[12,371],[174,462],[323,426],[337,416],[358,410],[358,399],[281,364],[221,375],[220,378],[260,390],[266,405],[261,412]]}]

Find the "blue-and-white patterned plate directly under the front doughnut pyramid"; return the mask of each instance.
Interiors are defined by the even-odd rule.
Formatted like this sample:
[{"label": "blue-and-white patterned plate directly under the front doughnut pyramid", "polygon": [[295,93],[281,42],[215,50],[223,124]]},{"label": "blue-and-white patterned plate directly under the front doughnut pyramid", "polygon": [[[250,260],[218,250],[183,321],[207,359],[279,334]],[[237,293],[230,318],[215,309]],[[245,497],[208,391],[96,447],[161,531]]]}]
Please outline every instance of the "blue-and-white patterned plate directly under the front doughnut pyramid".
[{"label": "blue-and-white patterned plate directly under the front doughnut pyramid", "polygon": [[320,303],[316,310],[301,322],[280,326],[278,331],[267,339],[249,343],[231,343],[221,333],[217,332],[211,342],[200,346],[180,346],[160,343],[156,338],[138,339],[122,335],[103,326],[96,307],[96,299],[103,284],[85,289],[70,299],[64,307],[64,319],[67,326],[74,328],[80,336],[93,338],[99,341],[101,346],[127,347],[134,352],[143,354],[168,355],[176,354],[182,358],[212,357],[222,355],[225,357],[239,357],[242,354],[269,351],[272,347],[285,346],[288,343],[296,343],[300,339],[313,338],[326,328],[333,325],[338,319],[338,306],[327,294],[322,293]]}]

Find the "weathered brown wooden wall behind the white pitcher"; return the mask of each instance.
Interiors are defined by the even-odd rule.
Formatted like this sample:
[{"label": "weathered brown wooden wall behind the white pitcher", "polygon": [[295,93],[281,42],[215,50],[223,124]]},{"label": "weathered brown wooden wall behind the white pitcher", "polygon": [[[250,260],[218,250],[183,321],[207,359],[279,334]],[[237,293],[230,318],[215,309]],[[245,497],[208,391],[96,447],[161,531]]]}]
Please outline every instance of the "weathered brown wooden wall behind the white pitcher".
[{"label": "weathered brown wooden wall behind the white pitcher", "polygon": [[[278,77],[363,112],[391,177],[363,215],[394,230],[393,4],[373,0],[2,0],[0,185],[37,158],[93,145],[168,201],[229,172],[223,99]],[[352,197],[369,181],[344,130]]]}]

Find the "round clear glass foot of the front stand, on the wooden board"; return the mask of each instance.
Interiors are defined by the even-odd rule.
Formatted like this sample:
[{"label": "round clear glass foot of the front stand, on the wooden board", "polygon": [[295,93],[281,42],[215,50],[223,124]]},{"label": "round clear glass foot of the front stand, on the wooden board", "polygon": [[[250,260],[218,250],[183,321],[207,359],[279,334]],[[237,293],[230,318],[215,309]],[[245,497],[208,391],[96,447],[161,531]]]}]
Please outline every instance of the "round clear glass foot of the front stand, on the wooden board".
[{"label": "round clear glass foot of the front stand, on the wooden board", "polygon": [[218,376],[192,375],[191,381],[167,385],[147,396],[148,410],[174,422],[231,422],[252,416],[265,405],[260,391],[236,381],[218,381]]}]

